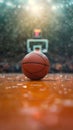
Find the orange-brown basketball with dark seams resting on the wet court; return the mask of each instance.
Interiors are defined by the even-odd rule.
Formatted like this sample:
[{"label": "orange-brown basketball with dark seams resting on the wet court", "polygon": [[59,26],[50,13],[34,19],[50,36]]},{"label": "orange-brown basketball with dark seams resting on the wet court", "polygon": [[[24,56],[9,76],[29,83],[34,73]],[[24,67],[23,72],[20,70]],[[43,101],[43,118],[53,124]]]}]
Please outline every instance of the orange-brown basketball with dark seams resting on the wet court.
[{"label": "orange-brown basketball with dark seams resting on the wet court", "polygon": [[31,80],[40,80],[50,69],[48,58],[37,52],[27,54],[22,60],[22,71]]}]

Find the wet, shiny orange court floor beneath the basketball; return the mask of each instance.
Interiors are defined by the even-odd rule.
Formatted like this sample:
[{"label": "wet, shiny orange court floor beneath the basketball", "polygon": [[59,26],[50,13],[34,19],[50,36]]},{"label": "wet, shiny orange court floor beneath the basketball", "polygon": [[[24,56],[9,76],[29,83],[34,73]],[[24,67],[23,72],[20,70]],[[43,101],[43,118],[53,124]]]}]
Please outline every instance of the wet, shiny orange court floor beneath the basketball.
[{"label": "wet, shiny orange court floor beneath the basketball", "polygon": [[73,75],[0,74],[0,130],[73,130]]}]

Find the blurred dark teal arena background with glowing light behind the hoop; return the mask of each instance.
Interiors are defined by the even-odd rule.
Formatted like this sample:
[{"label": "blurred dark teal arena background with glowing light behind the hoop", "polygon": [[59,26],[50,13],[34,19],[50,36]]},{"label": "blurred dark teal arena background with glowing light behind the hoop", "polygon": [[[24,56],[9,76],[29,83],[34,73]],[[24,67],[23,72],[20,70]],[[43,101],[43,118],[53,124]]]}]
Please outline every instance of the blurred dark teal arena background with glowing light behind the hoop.
[{"label": "blurred dark teal arena background with glowing light behind the hoop", "polygon": [[73,73],[73,0],[0,0],[0,73],[19,73],[27,40],[41,29],[50,73]]}]

